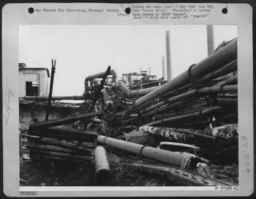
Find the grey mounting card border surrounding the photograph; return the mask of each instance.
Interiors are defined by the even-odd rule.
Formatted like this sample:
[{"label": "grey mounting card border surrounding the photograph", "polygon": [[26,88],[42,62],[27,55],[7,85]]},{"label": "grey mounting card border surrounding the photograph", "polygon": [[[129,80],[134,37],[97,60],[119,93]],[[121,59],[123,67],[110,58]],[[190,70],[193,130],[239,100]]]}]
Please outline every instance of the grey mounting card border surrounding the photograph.
[{"label": "grey mounting card border surrounding the photograph", "polygon": [[[142,4],[142,3],[141,3]],[[143,3],[154,4],[154,3]],[[188,3],[178,3],[188,4]],[[193,3],[202,4],[202,3]],[[106,3],[24,3],[6,4],[2,22],[3,115],[3,182],[7,196],[249,196],[253,184],[253,43],[252,6],[249,4],[216,4],[211,16],[195,20],[133,20],[92,14],[44,13],[31,15],[28,8],[126,8],[132,4]],[[137,4],[140,5],[140,4]],[[227,15],[221,10],[228,9]],[[20,187],[19,185],[19,25],[143,25],[143,24],[225,24],[237,26],[238,47],[238,120],[239,120],[239,190],[215,191],[214,187]],[[10,109],[9,109],[10,110]],[[249,157],[249,158],[248,158]]]}]

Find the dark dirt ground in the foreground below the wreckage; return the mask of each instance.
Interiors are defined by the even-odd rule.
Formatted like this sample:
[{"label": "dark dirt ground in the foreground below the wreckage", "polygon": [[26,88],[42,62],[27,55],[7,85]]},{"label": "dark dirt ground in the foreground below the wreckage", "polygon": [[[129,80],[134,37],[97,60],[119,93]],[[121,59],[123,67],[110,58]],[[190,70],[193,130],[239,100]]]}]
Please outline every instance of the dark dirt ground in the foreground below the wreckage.
[{"label": "dark dirt ground in the foreground below the wreckage", "polygon": [[[168,177],[154,173],[137,172],[124,163],[144,162],[148,159],[127,154],[118,149],[106,148],[111,177],[97,182],[93,163],[49,163],[25,160],[20,157],[20,186],[186,186],[172,182]],[[27,154],[24,151],[23,154]],[[238,185],[238,165],[210,165],[214,179]],[[197,172],[197,171],[194,171]]]}]

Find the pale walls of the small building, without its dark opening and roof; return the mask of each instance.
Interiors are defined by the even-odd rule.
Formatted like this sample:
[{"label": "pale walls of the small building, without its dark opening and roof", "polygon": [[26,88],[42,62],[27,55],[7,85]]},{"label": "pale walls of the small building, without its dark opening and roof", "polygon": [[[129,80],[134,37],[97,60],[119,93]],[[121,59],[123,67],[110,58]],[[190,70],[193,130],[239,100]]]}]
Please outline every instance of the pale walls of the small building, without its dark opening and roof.
[{"label": "pale walls of the small building, without its dark opening and roof", "polygon": [[38,96],[48,96],[48,75],[45,69],[19,69],[19,97],[26,96],[26,82],[38,82]]}]

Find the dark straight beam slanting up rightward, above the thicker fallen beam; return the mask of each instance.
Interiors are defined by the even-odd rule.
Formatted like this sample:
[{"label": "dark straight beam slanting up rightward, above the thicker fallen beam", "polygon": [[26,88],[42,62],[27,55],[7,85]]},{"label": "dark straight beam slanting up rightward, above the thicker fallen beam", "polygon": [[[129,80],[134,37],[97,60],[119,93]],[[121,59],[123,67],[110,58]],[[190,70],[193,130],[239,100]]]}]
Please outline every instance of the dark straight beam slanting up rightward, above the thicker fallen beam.
[{"label": "dark straight beam slanting up rightward, above the thicker fallen beam", "polygon": [[52,126],[58,126],[58,125],[63,125],[63,124],[69,124],[72,122],[79,121],[81,119],[86,119],[86,117],[94,117],[94,116],[100,116],[102,115],[101,112],[93,112],[93,113],[86,113],[86,114],[81,114],[81,115],[76,115],[72,117],[64,117],[61,119],[54,119],[51,121],[43,121],[43,122],[36,122],[34,124],[29,125],[29,130],[33,129],[42,129],[42,128],[49,128]]}]

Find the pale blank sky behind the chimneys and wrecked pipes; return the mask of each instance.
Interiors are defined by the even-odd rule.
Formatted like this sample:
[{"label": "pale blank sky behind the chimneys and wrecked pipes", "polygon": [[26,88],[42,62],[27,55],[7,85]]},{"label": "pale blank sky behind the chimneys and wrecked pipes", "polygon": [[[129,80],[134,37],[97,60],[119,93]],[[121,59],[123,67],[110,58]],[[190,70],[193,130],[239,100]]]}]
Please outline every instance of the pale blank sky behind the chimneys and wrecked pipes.
[{"label": "pale blank sky behind the chimneys and wrecked pipes", "polygon": [[[83,94],[84,78],[106,71],[109,65],[118,77],[150,67],[152,75],[161,78],[165,31],[170,31],[172,77],[207,57],[204,25],[22,25],[19,63],[48,68],[51,73],[51,59],[56,59],[53,96]],[[236,26],[214,26],[214,48],[236,36]]]}]

